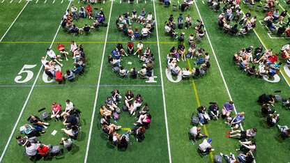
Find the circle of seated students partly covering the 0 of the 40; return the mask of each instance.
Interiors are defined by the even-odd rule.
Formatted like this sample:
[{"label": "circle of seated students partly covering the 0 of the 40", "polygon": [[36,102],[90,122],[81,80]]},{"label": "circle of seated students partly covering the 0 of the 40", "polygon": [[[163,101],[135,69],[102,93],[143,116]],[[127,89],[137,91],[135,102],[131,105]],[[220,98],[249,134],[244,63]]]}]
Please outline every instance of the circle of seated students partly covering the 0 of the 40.
[{"label": "circle of seated students partly covering the 0 of the 40", "polygon": [[[204,49],[202,47],[199,47],[197,49],[197,52],[195,52],[197,49],[197,45],[195,45],[194,42],[191,43],[190,49],[188,49],[188,54],[185,56],[185,47],[184,45],[178,45],[178,49],[176,47],[172,47],[170,49],[170,53],[167,54],[167,70],[171,71],[173,75],[181,75],[184,78],[187,77],[198,77],[199,75],[204,75],[206,72],[208,72],[208,68],[211,68],[211,63],[209,62],[210,56],[208,52],[204,54]],[[195,54],[194,54],[195,52]],[[174,56],[174,58],[173,58]],[[188,59],[197,59],[197,61],[194,61],[195,66],[197,64],[201,64],[199,68],[179,68],[177,62],[179,62],[179,56],[181,56],[181,60],[185,61],[185,57]],[[202,57],[204,56],[204,57]]]}]

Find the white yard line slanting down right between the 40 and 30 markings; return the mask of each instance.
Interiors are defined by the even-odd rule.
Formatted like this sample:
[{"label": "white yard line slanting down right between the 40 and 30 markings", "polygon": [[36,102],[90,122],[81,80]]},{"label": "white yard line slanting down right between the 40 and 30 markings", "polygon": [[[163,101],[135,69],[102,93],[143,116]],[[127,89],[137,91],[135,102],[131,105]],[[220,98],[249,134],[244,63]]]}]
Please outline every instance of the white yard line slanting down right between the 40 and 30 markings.
[{"label": "white yard line slanting down right between the 40 and 30 markings", "polygon": [[[194,2],[194,3],[195,3],[195,2]],[[195,3],[195,7],[197,8],[197,3]],[[197,8],[197,13],[199,13],[199,8]],[[244,15],[245,15],[245,14],[244,14]],[[201,18],[200,13],[199,13],[199,17],[200,17],[201,22],[204,22],[204,21],[202,20],[202,18]],[[206,31],[206,26],[205,26],[205,24],[204,24],[204,31]],[[206,36],[207,36],[207,38],[208,38],[209,45],[211,45],[211,40],[210,40],[210,38],[208,37],[208,32],[206,32]],[[213,51],[213,56],[215,56],[215,51],[213,50],[213,45],[211,45],[211,50]],[[217,56],[215,56],[215,61],[217,61]],[[217,67],[218,67],[218,69],[220,70],[220,75],[222,76],[222,81],[224,81],[224,86],[225,86],[226,89],[227,89],[227,94],[229,95],[229,100],[233,101],[233,99],[231,98],[231,93],[229,93],[229,88],[227,87],[227,82],[226,82],[225,79],[224,79],[224,75],[222,74],[222,70],[220,69],[220,64],[218,63],[218,61],[217,61]],[[233,104],[233,106],[234,106],[235,114],[237,114],[236,107],[235,107],[234,104]],[[241,127],[241,130],[244,130],[244,129],[243,129],[243,125],[242,125],[242,123],[240,123],[240,127]],[[246,139],[246,140],[247,140],[247,139]],[[250,152],[250,153],[252,154],[252,152]],[[252,155],[253,155],[253,154],[252,154]],[[254,156],[254,155],[253,155],[253,156]],[[254,160],[254,163],[256,163],[256,160]]]}]

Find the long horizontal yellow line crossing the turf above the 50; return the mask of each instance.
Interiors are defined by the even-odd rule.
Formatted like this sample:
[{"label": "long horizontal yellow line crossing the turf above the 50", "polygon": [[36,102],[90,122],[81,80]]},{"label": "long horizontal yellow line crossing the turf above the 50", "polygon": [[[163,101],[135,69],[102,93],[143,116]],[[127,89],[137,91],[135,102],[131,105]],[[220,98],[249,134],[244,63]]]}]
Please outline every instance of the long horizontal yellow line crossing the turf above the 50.
[{"label": "long horizontal yellow line crossing the turf above the 50", "polygon": [[[6,42],[0,42],[0,44],[50,44],[52,42],[38,42],[38,41],[6,41]],[[56,44],[57,42],[54,42]],[[70,42],[60,42],[61,44],[70,44]],[[77,42],[80,44],[105,44],[105,42]],[[128,42],[106,42],[106,43],[128,43]],[[139,43],[138,41],[135,41],[134,43]],[[176,42],[142,42],[142,43],[148,43],[148,44],[175,44]]]}]

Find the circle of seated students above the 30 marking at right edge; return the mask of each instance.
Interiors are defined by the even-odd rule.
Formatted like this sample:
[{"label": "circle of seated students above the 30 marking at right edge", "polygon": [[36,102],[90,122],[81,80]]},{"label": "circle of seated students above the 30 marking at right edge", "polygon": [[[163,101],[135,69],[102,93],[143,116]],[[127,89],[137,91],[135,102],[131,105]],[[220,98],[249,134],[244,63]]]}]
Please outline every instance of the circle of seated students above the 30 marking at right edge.
[{"label": "circle of seated students above the 30 marking at right edge", "polygon": [[[265,50],[263,53],[263,46],[254,49],[254,57],[252,55],[254,47],[243,48],[236,52],[233,56],[233,61],[236,66],[247,72],[247,75],[252,77],[255,73],[257,77],[273,77],[280,73],[282,61],[275,63],[278,60],[279,53],[272,54],[272,49]],[[282,46],[282,59],[286,60],[287,65],[290,65],[289,44]],[[250,62],[252,66],[250,66]],[[255,63],[259,63],[259,70],[257,70]]]}]

